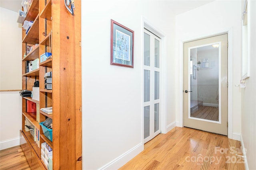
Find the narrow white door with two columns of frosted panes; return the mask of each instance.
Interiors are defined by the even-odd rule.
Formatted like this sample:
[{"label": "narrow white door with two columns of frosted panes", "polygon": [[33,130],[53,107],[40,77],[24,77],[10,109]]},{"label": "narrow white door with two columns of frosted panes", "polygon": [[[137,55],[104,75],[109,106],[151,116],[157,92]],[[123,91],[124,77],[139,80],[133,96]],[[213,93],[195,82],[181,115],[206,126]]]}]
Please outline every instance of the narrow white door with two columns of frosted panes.
[{"label": "narrow white door with two columns of frosted panes", "polygon": [[160,130],[161,39],[144,29],[144,143]]}]

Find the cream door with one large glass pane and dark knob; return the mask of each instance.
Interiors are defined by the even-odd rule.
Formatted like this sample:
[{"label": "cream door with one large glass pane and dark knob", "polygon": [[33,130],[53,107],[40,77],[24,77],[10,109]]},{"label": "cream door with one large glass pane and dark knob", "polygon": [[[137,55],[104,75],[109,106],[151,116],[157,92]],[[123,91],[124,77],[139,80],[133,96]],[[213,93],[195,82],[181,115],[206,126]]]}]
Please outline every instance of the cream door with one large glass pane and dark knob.
[{"label": "cream door with one large glass pane and dark knob", "polygon": [[184,126],[228,135],[228,34],[184,43]]}]

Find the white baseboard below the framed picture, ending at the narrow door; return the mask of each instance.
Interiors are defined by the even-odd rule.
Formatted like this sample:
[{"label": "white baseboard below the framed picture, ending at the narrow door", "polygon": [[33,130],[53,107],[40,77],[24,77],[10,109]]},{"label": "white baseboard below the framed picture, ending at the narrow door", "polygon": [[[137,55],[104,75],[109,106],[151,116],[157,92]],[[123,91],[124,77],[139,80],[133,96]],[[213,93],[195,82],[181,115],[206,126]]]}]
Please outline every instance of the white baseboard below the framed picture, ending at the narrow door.
[{"label": "white baseboard below the framed picture, ending at the narrow door", "polygon": [[100,170],[117,170],[118,168],[126,164],[129,160],[137,156],[140,152],[142,152],[143,148],[143,143],[136,145],[132,149],[128,150],[126,153],[119,156],[118,158],[102,166]]}]

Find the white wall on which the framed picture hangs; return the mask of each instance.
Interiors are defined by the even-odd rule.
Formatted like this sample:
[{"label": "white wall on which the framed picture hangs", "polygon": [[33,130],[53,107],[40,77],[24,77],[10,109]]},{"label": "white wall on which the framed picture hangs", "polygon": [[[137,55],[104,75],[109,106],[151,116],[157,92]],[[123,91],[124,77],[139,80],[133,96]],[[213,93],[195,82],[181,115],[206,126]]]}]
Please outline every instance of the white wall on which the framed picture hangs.
[{"label": "white wall on which the framed picture hangs", "polygon": [[[142,17],[166,36],[170,94],[166,99],[166,125],[175,124],[175,84],[171,81],[175,74],[174,16],[168,13],[167,3],[108,0],[82,3],[84,169],[109,167],[113,160],[133,149],[136,154],[143,149]],[[134,68],[110,65],[110,19],[134,31]]]}]

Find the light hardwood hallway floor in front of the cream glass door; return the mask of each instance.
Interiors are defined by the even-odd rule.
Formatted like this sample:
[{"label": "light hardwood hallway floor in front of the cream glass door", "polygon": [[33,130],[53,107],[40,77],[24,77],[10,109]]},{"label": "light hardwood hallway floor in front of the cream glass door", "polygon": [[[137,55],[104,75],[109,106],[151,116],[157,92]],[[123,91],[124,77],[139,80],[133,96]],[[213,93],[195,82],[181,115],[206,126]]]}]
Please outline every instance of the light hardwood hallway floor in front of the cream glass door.
[{"label": "light hardwood hallway floor in front of the cream glass door", "polygon": [[240,146],[226,136],[176,127],[146,143],[120,170],[244,170]]}]

